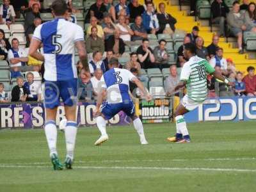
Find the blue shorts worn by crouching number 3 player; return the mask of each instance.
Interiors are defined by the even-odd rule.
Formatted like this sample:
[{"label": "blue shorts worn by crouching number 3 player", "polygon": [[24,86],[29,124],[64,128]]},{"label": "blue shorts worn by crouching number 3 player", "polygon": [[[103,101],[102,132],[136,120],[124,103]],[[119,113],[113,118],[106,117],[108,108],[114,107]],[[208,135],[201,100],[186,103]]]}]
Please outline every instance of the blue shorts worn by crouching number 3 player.
[{"label": "blue shorts worn by crouching number 3 player", "polygon": [[134,116],[135,108],[133,102],[120,102],[116,104],[108,104],[108,102],[105,102],[104,104],[102,104],[101,113],[105,116],[107,120],[111,119],[120,111],[124,111],[127,116]]}]

